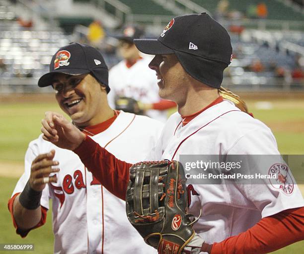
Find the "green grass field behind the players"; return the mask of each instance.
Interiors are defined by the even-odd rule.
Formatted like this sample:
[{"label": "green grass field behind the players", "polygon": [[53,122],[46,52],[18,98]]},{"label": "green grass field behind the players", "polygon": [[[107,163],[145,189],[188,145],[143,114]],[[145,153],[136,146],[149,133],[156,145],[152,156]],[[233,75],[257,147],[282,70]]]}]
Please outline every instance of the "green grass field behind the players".
[{"label": "green grass field behind the players", "polygon": [[[293,105],[293,100],[288,99],[280,100],[280,103],[272,101],[273,108],[268,110],[257,108],[255,100],[247,101],[255,118],[265,122],[273,130],[282,154],[304,154],[304,103],[301,100],[295,105]],[[0,104],[0,165],[10,162],[21,165],[28,143],[40,135],[40,122],[44,117],[44,112],[48,110],[61,112],[55,102],[45,104],[34,102]],[[0,173],[3,171],[5,169],[0,168]],[[16,181],[17,178],[13,176],[0,176],[0,243],[32,243],[35,244],[35,253],[51,254],[53,253],[54,238],[50,212],[46,225],[30,232],[25,239],[21,239],[15,234],[7,210],[7,200]],[[303,250],[304,241],[274,253],[300,254],[304,253]]]}]

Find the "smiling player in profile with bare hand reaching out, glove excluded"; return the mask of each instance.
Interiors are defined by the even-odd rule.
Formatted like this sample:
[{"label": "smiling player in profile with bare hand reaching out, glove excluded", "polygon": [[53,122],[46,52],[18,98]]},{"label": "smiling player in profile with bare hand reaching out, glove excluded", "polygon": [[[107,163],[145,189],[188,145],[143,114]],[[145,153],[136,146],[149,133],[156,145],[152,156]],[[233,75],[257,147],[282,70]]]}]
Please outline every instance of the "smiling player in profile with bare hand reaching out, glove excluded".
[{"label": "smiling player in profile with bare hand reaching out, glove excluded", "polygon": [[[267,126],[219,96],[232,48],[225,28],[208,14],[175,17],[157,39],[135,40],[135,44],[155,55],[149,66],[156,72],[159,95],[178,106],[148,160],[179,160],[181,155],[279,155]],[[123,197],[131,164],[115,159],[63,116],[50,112],[43,126],[46,140],[73,150],[102,183],[124,175],[125,186],[108,186]],[[259,169],[259,163],[253,166]],[[286,175],[281,163],[267,167]],[[188,185],[192,193],[189,213],[199,218],[187,253],[262,254],[304,240],[304,199],[292,177],[283,178],[278,185],[268,179],[259,185]],[[162,248],[158,251],[165,253]]]}]

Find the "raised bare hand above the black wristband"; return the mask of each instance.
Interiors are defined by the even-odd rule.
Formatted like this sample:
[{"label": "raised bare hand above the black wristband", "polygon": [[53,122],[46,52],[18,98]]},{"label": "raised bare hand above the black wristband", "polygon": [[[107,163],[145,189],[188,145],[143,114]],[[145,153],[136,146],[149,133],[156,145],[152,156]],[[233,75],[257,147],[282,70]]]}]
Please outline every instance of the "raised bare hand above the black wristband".
[{"label": "raised bare hand above the black wristband", "polygon": [[57,182],[55,175],[50,176],[50,173],[58,172],[59,169],[52,169],[52,166],[58,166],[59,162],[53,161],[55,150],[47,154],[38,155],[32,162],[29,184],[32,189],[42,191],[46,183]]}]

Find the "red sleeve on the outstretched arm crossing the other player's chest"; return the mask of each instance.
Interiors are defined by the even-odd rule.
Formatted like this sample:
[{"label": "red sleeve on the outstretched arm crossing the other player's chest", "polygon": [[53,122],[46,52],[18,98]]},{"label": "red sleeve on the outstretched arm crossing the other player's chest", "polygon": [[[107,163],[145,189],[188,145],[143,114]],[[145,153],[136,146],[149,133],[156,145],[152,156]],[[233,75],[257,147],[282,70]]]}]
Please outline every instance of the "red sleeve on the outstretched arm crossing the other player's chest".
[{"label": "red sleeve on the outstretched arm crossing the other player's chest", "polygon": [[129,169],[132,164],[118,160],[88,136],[74,153],[108,191],[123,200],[126,199]]}]

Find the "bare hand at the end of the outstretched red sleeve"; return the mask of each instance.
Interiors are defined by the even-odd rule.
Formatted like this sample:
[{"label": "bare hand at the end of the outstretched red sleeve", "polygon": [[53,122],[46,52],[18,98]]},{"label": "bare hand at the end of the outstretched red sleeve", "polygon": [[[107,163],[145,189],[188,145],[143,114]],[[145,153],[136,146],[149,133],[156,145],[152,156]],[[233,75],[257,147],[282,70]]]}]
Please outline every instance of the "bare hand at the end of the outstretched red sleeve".
[{"label": "bare hand at the end of the outstretched red sleeve", "polygon": [[60,148],[73,151],[85,138],[85,134],[61,114],[48,111],[41,123],[42,138]]}]

